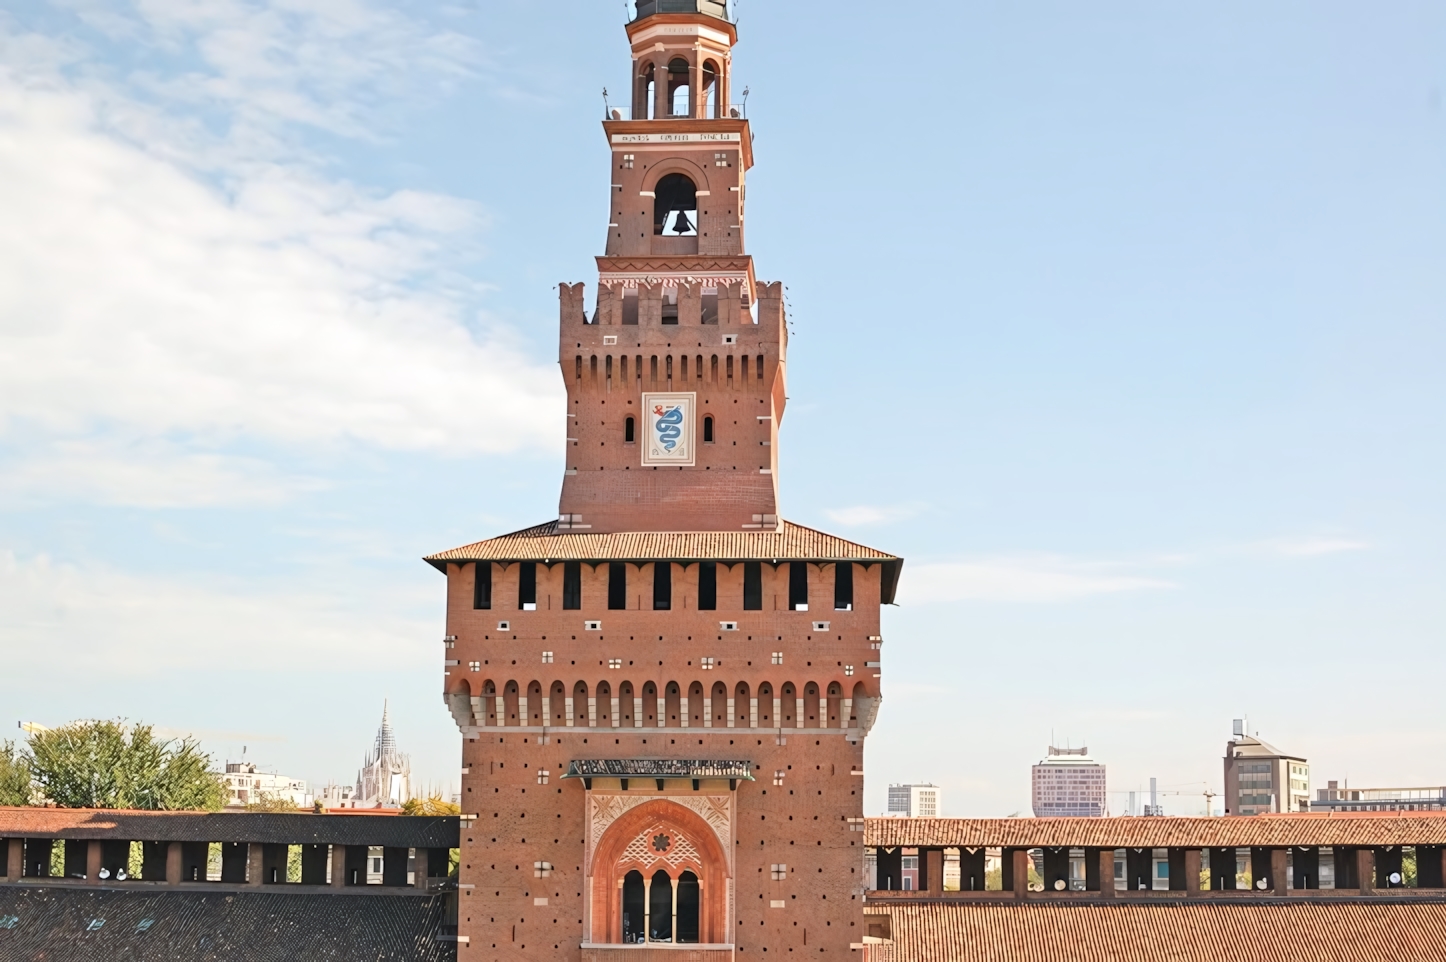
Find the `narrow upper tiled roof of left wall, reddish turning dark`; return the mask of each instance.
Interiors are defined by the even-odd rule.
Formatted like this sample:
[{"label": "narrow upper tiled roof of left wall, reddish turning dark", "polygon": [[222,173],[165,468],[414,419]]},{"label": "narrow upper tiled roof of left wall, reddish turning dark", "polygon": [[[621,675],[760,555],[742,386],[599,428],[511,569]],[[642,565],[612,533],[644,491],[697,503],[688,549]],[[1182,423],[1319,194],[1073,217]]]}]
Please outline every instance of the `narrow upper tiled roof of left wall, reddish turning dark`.
[{"label": "narrow upper tiled roof of left wall, reddish turning dark", "polygon": [[0,839],[127,842],[262,842],[457,848],[461,820],[448,816],[289,814],[270,812],[116,812],[0,809]]}]

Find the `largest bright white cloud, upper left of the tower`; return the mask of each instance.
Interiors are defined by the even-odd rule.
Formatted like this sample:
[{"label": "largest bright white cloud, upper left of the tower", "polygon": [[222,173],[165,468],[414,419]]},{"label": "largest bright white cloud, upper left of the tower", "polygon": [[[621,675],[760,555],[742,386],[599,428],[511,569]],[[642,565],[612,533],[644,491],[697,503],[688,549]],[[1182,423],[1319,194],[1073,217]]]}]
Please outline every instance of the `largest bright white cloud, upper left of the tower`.
[{"label": "largest bright white cloud, upper left of the tower", "polygon": [[[67,444],[108,459],[62,490],[211,503],[307,486],[227,456],[240,441],[560,443],[555,367],[480,323],[483,291],[455,271],[483,211],[324,175],[291,137],[298,123],[367,136],[357,117],[398,77],[463,72],[463,39],[366,3],[81,6],[113,36],[198,52],[201,67],[143,78],[156,106],[75,68],[88,67],[75,43],[0,22],[0,435],[46,440],[7,467],[7,488],[64,476]],[[182,97],[230,111],[224,137]]]}]

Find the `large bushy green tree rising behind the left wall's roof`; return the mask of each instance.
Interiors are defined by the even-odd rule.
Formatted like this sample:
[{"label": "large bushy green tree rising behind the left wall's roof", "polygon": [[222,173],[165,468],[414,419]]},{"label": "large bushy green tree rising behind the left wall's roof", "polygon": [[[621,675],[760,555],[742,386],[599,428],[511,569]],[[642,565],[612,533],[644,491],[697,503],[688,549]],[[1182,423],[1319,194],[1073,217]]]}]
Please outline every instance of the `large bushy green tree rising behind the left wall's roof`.
[{"label": "large bushy green tree rising behind the left wall's roof", "polygon": [[35,732],[25,761],[39,793],[67,809],[215,812],[226,803],[200,744],[158,739],[149,725],[71,722]]}]

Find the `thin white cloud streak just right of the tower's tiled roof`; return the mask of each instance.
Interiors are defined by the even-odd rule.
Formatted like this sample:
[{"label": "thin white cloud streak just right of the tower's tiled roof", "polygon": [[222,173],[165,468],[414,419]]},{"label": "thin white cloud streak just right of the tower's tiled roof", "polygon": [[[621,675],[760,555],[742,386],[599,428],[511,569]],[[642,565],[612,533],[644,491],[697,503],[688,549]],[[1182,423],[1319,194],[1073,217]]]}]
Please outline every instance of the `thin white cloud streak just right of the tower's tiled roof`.
[{"label": "thin white cloud streak just right of the tower's tiled roof", "polygon": [[1053,603],[1164,587],[1174,584],[1111,564],[1009,557],[910,566],[899,584],[899,602]]}]

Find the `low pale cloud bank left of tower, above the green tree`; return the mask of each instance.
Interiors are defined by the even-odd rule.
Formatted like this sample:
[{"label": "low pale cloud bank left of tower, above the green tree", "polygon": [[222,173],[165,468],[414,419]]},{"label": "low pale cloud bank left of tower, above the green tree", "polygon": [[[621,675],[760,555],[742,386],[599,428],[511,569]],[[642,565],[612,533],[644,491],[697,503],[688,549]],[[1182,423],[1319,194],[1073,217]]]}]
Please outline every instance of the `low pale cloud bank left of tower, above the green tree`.
[{"label": "low pale cloud bank left of tower, above the green tree", "polygon": [[424,644],[435,625],[357,605],[364,595],[268,593],[0,553],[0,651],[22,677],[435,665]]}]

